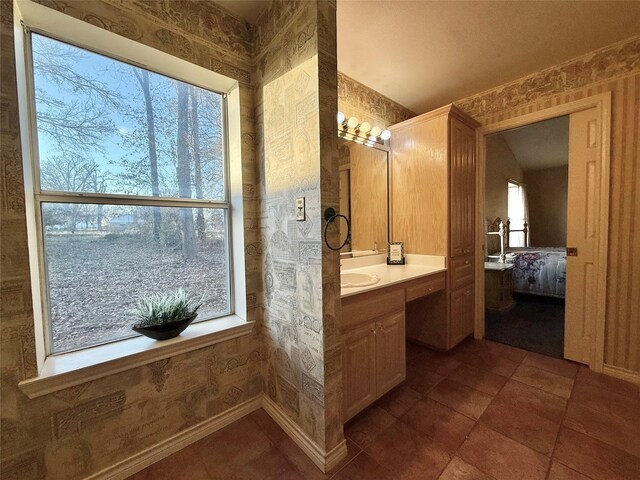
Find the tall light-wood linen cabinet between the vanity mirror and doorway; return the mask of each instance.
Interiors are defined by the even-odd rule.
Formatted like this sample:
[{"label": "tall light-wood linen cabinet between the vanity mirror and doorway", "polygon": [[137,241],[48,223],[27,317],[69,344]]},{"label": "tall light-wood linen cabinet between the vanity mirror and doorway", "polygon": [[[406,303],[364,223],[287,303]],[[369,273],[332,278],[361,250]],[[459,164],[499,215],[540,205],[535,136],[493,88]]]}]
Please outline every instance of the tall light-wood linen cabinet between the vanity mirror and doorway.
[{"label": "tall light-wood linen cabinet between the vanity mirror and doorway", "polygon": [[407,329],[441,350],[474,330],[477,127],[454,105],[390,127],[393,240],[447,264],[446,302],[408,307]]}]

